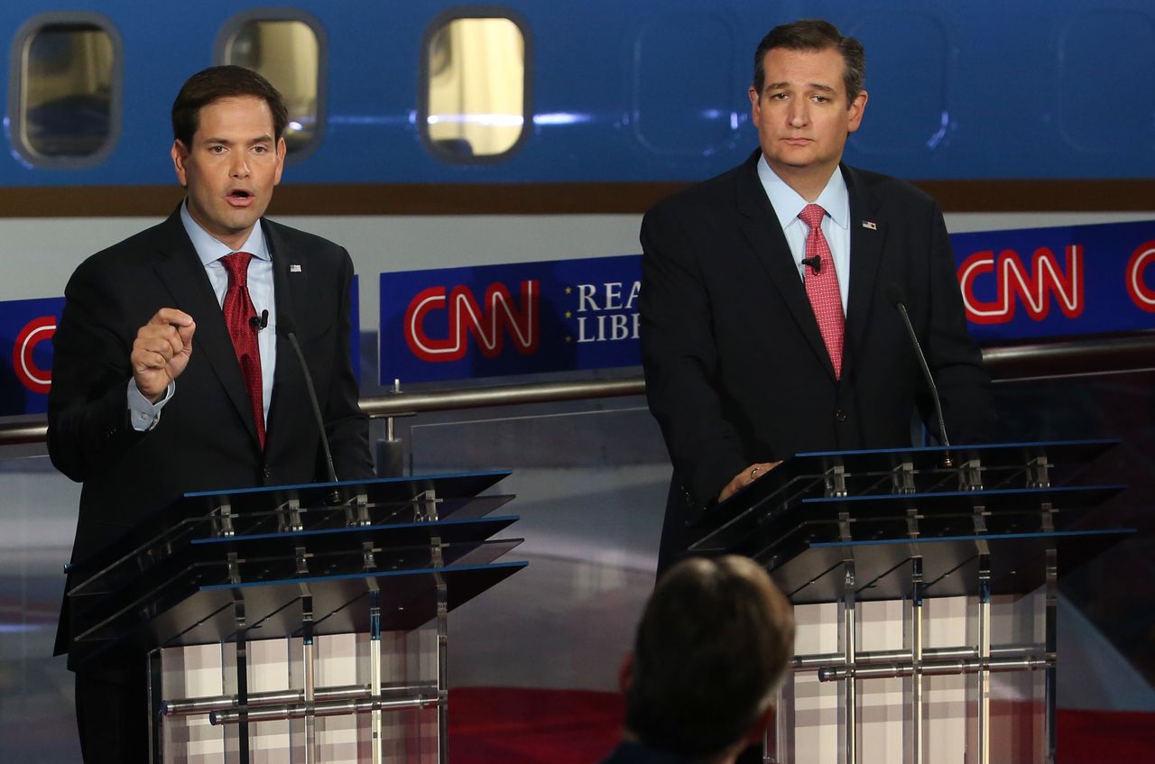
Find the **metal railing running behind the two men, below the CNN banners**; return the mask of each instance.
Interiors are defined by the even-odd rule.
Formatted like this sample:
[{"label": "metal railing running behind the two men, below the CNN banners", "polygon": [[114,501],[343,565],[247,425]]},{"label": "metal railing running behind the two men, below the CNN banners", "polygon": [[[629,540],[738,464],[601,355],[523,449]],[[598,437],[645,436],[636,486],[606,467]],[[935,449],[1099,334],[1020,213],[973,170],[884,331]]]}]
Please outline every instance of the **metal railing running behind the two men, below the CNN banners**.
[{"label": "metal railing running behind the two men, below the CNN banners", "polygon": [[[1155,369],[1155,332],[1040,343],[983,350],[983,361],[998,381],[1111,374]],[[576,382],[501,384],[459,390],[390,392],[365,397],[362,410],[373,418],[405,417],[434,411],[457,411],[560,400],[589,400],[644,395],[641,377]],[[0,445],[43,443],[45,418],[0,422]]]}]

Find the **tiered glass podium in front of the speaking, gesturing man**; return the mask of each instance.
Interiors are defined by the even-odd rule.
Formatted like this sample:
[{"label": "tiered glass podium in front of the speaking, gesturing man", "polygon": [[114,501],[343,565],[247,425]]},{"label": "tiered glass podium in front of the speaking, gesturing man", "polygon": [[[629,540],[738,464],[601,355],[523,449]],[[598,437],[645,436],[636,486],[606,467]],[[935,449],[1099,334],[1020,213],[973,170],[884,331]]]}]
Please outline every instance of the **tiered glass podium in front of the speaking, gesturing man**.
[{"label": "tiered glass podium in front of the speaking, gesturing man", "polygon": [[527,564],[508,474],[187,494],[79,563],[73,658],[148,661],[154,762],[444,764],[448,613]]}]

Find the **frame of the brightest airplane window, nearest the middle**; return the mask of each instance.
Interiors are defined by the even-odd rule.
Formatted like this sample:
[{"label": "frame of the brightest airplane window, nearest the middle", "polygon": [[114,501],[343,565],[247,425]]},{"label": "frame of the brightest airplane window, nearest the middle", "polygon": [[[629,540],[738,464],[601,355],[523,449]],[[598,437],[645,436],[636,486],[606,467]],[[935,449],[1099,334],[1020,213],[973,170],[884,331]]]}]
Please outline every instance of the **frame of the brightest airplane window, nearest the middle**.
[{"label": "frame of the brightest airplane window, nearest the middle", "polygon": [[[521,134],[514,143],[501,153],[480,156],[462,156],[440,147],[430,135],[430,44],[433,37],[444,28],[459,18],[502,18],[512,22],[521,33],[523,46],[523,67],[521,81]],[[448,165],[498,165],[509,162],[521,152],[529,141],[534,126],[532,83],[534,83],[534,37],[529,23],[520,14],[505,6],[455,6],[441,12],[425,27],[422,32],[417,68],[417,134],[422,145],[433,158]]]}]

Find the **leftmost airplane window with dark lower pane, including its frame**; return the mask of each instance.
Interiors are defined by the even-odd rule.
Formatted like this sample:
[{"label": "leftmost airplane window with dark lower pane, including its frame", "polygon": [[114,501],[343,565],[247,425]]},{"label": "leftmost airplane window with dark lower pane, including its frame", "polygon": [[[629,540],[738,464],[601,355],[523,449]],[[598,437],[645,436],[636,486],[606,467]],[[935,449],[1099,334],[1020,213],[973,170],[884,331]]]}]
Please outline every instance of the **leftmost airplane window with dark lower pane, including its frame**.
[{"label": "leftmost airplane window with dark lower pane, including its frame", "polygon": [[13,51],[13,143],[33,165],[88,166],[112,150],[120,120],[120,40],[95,14],[31,20]]}]

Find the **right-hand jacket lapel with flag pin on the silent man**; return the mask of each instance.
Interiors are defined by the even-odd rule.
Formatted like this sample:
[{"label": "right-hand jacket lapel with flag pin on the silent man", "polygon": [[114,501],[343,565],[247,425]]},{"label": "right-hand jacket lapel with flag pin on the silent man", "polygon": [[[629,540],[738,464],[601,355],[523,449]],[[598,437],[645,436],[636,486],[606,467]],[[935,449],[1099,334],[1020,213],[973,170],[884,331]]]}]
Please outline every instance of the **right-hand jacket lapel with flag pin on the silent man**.
[{"label": "right-hand jacket lapel with flag pin on the silent man", "polygon": [[886,225],[878,219],[878,200],[865,188],[858,173],[845,165],[842,171],[850,192],[850,293],[847,305],[847,347],[850,352],[845,353],[849,366],[854,364],[854,349],[863,346],[870,324]]}]

